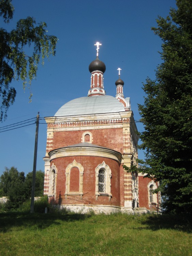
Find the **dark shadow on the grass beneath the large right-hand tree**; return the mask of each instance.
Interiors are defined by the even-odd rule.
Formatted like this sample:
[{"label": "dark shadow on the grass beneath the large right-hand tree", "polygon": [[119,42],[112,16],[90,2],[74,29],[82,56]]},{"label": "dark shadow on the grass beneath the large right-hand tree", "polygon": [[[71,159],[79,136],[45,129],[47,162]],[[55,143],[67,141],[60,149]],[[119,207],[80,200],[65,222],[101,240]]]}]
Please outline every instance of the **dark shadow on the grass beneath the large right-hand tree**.
[{"label": "dark shadow on the grass beneath the large right-hand tree", "polygon": [[192,232],[192,221],[189,215],[150,214],[142,219],[141,223],[144,225],[144,229],[175,229],[188,233]]}]

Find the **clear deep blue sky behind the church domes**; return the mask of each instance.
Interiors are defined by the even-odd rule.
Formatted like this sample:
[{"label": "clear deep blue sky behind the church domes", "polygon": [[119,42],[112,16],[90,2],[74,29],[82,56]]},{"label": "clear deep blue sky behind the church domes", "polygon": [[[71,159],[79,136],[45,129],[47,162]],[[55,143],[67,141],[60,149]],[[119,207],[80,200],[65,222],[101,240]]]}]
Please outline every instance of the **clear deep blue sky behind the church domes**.
[{"label": "clear deep blue sky behind the church domes", "polygon": [[[90,88],[88,66],[96,58],[99,41],[102,46],[99,58],[106,65],[104,88],[107,95],[116,95],[117,68],[121,68],[124,96],[131,98],[135,120],[139,120],[137,104],[143,104],[142,83],[147,76],[155,79],[155,69],[161,63],[158,51],[162,41],[151,31],[156,27],[158,15],[166,17],[175,0],[13,0],[15,12],[8,31],[15,28],[17,20],[32,16],[36,22],[46,22],[48,34],[59,41],[56,56],[39,66],[36,80],[30,91],[23,91],[22,81],[12,86],[17,90],[15,103],[8,118],[0,127],[35,118],[54,116],[66,102],[87,96]],[[26,123],[25,125],[30,124]],[[13,128],[17,128],[13,127]],[[40,121],[37,170],[44,171],[46,150],[46,124]],[[138,131],[143,125],[137,123]],[[0,128],[2,129],[2,128]],[[3,131],[3,130],[0,130]],[[33,170],[35,123],[23,128],[0,132],[0,175],[4,167],[15,166],[25,174]],[[144,154],[139,151],[139,158]]]}]

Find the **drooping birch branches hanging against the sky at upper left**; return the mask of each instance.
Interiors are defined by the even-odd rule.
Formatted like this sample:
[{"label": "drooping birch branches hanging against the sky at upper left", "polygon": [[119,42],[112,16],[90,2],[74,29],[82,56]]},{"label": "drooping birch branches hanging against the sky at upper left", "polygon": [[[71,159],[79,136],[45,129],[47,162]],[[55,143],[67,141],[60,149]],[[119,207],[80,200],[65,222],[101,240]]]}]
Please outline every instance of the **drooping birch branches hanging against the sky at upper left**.
[{"label": "drooping birch branches hanging against the sky at upper left", "polygon": [[[12,0],[0,0],[0,16],[5,23],[13,18],[14,7]],[[16,28],[8,32],[0,28],[0,121],[6,118],[7,111],[15,101],[16,89],[11,87],[11,82],[16,78],[23,81],[23,87],[36,77],[38,64],[42,58],[55,55],[57,38],[47,35],[46,23],[36,26],[35,19],[27,17],[20,19]],[[33,49],[32,54],[26,53],[26,46]],[[31,99],[32,94],[30,95]]]}]

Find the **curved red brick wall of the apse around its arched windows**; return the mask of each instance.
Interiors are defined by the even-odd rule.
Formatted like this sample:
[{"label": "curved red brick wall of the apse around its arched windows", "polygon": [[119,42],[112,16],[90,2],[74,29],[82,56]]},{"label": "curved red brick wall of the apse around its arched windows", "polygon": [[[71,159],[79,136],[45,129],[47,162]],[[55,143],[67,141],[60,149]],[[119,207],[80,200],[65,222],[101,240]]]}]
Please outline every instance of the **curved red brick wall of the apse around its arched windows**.
[{"label": "curved red brick wall of the apse around its arched windows", "polygon": [[[80,196],[68,195],[65,199],[65,169],[73,162],[73,160],[80,163],[84,167],[83,175],[83,199]],[[112,198],[109,201],[108,196],[99,196],[98,200],[95,198],[95,168],[105,161],[106,165],[112,170],[111,178],[111,193]],[[62,204],[103,204],[103,205],[116,205],[120,206],[120,175],[119,163],[113,159],[105,157],[93,156],[75,156],[75,157],[60,157],[51,161],[54,163],[57,173],[57,186],[56,186],[56,201],[59,199]],[[72,181],[70,181],[72,182]]]}]

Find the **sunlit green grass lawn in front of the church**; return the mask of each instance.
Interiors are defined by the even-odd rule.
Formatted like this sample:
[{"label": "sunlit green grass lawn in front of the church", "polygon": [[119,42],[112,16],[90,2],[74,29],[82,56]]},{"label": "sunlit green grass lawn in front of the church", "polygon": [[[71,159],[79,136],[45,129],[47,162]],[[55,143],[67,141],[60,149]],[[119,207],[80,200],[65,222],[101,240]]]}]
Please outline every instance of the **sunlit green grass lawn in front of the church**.
[{"label": "sunlit green grass lawn in front of the church", "polygon": [[189,217],[0,213],[0,255],[192,255]]}]

